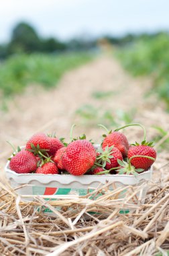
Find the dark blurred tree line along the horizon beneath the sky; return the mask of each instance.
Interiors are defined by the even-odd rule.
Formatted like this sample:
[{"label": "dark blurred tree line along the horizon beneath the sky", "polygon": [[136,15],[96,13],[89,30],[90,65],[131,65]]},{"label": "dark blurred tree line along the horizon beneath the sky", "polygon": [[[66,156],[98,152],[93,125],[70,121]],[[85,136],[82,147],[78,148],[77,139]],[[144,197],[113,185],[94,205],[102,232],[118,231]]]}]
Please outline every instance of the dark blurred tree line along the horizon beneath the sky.
[{"label": "dark blurred tree line along the horizon beneath the sky", "polygon": [[[158,34],[158,33],[156,33]],[[73,38],[67,42],[57,38],[42,38],[36,29],[25,22],[20,22],[13,28],[11,39],[7,44],[0,44],[0,59],[18,53],[58,53],[64,51],[87,51],[95,49],[99,40],[104,39],[109,44],[124,46],[136,39],[156,36],[156,34],[127,34],[121,37],[103,36],[102,38]]]}]

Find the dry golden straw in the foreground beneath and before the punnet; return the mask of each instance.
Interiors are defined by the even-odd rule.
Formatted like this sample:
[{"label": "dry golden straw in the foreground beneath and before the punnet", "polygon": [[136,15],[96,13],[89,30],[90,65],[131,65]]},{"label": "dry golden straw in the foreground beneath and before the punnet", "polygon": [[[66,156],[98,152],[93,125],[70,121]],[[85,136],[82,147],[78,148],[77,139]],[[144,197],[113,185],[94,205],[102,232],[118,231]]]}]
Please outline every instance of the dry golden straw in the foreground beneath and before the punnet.
[{"label": "dry golden straw in the foreground beneath and before the punnet", "polygon": [[[0,253],[1,255],[156,255],[169,249],[169,174],[168,164],[156,170],[166,173],[158,183],[149,183],[145,203],[141,203],[146,184],[109,191],[107,185],[96,200],[90,194],[78,197],[53,195],[25,201],[8,185],[1,186]],[[140,196],[137,197],[136,193]],[[135,204],[138,203],[138,205]],[[38,212],[46,206],[54,212]],[[62,208],[56,210],[56,206]],[[119,210],[135,209],[131,214]],[[99,212],[99,214],[91,214]]]}]

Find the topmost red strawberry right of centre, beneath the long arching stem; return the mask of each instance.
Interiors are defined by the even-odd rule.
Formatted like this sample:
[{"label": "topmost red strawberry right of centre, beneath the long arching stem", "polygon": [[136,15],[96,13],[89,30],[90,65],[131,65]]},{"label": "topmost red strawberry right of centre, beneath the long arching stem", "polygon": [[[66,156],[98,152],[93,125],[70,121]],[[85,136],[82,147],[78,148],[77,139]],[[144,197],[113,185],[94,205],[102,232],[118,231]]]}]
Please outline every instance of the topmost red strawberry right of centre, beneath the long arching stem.
[{"label": "topmost red strawberry right of centre, beneath the long arching stem", "polygon": [[127,137],[123,135],[123,133],[119,131],[113,131],[109,133],[105,139],[103,139],[102,148],[104,149],[106,146],[115,146],[123,157],[127,156],[127,152],[129,150],[129,142],[127,141]]}]

